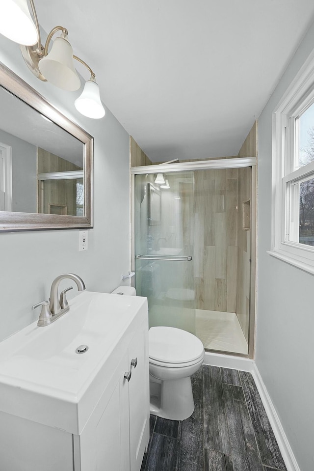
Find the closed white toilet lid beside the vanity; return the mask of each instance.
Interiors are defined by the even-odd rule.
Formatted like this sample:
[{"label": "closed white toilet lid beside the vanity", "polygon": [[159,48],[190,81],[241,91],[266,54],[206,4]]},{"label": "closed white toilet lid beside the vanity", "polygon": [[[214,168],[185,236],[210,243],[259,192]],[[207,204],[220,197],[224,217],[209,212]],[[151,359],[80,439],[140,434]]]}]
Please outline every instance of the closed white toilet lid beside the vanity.
[{"label": "closed white toilet lid beside the vanity", "polygon": [[151,327],[149,330],[149,356],[164,363],[186,363],[204,354],[199,338],[174,327]]}]

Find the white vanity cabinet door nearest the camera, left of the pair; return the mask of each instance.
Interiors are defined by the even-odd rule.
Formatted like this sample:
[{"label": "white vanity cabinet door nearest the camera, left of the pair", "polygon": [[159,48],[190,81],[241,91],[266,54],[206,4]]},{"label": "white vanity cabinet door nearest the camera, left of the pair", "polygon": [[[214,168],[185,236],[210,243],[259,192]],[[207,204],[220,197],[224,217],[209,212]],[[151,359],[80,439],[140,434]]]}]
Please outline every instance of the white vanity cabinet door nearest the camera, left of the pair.
[{"label": "white vanity cabinet door nearest the camera, left of the pair", "polygon": [[127,352],[90,416],[75,437],[75,471],[129,470],[129,404]]}]

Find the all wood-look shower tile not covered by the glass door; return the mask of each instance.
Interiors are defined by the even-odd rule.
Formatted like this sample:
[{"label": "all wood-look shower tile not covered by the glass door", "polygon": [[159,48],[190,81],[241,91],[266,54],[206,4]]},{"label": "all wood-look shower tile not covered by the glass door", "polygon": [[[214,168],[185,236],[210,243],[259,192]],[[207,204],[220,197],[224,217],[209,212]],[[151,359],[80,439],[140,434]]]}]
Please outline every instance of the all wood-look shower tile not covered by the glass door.
[{"label": "all wood-look shower tile not covered by the glass door", "polygon": [[[257,156],[257,121],[237,157],[253,156]],[[152,165],[132,137],[130,162]],[[251,169],[198,170],[194,184],[196,308],[236,312],[248,339],[251,233],[242,228],[242,204],[251,198]]]}]

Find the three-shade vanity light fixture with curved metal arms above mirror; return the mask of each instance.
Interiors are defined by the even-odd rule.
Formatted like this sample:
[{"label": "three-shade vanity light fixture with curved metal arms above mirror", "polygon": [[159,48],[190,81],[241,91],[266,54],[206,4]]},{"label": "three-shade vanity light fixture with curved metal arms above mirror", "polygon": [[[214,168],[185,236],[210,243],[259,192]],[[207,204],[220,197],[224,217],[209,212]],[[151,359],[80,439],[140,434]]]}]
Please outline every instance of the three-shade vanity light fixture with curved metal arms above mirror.
[{"label": "three-shade vanity light fixture with curved metal arms above mirror", "polygon": [[[75,91],[80,87],[80,79],[74,67],[74,59],[83,64],[91,77],[75,101],[76,109],[89,118],[102,118],[105,109],[100,99],[99,86],[95,74],[89,65],[73,55],[68,42],[68,31],[62,26],[52,28],[45,46],[41,44],[39,23],[33,0],[29,0],[34,21],[31,18],[27,0],[2,0],[0,6],[0,33],[20,44],[20,49],[27,67],[40,80],[50,82],[63,90]],[[61,36],[53,41],[48,52],[52,36],[61,31]]]}]

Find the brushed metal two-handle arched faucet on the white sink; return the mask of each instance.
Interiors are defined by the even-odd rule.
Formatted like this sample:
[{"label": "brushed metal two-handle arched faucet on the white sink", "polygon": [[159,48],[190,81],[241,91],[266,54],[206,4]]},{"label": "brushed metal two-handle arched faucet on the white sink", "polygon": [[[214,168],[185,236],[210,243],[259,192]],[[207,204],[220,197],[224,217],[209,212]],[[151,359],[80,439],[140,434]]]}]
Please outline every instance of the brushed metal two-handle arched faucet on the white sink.
[{"label": "brushed metal two-handle arched faucet on the white sink", "polygon": [[[70,278],[76,282],[78,291],[84,291],[85,284],[82,278],[74,273],[63,273],[59,275],[52,281],[51,291],[50,291],[50,304],[47,300],[42,301],[41,303],[35,304],[32,306],[32,309],[42,306],[41,312],[39,315],[37,325],[40,327],[45,327],[54,322],[58,317],[62,316],[70,309],[68,301],[66,299],[66,292],[72,289],[72,286],[64,289],[60,294],[60,299],[58,299],[58,287],[62,279]],[[48,306],[49,304],[49,306]]]}]

